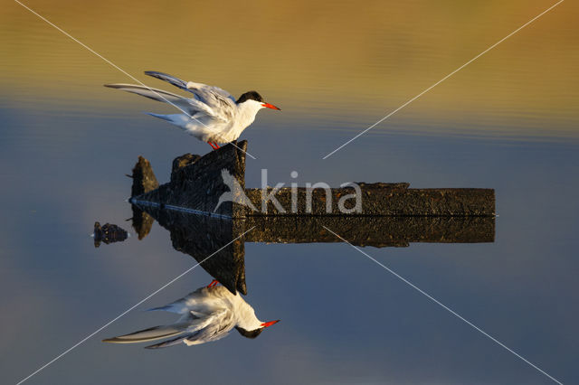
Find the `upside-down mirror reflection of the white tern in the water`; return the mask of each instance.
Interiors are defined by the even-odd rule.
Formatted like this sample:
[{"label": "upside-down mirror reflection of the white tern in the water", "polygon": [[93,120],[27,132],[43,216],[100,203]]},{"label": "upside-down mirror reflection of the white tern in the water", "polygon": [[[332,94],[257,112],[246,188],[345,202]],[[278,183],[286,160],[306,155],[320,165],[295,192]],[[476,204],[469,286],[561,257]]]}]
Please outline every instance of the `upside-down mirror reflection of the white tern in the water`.
[{"label": "upside-down mirror reflection of the white tern in the water", "polygon": [[280,320],[261,322],[252,306],[239,293],[233,295],[224,286],[201,287],[172,304],[150,310],[164,310],[182,315],[174,324],[155,326],[135,333],[102,340],[104,343],[143,343],[167,337],[176,337],[147,349],[166,348],[179,343],[187,346],[217,341],[233,328],[247,338],[255,338],[261,331]]}]

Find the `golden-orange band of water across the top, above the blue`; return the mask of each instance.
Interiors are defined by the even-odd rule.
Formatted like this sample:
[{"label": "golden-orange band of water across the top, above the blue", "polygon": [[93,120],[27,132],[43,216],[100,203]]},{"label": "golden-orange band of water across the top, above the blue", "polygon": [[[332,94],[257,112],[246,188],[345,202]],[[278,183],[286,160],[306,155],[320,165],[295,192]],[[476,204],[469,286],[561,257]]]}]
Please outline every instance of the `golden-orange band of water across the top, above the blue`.
[{"label": "golden-orange band of water across the top, above the blue", "polygon": [[[150,86],[161,85],[143,70],[161,70],[233,95],[259,89],[290,117],[367,125],[553,4],[25,2]],[[576,137],[578,8],[555,7],[376,131],[412,123],[428,132]],[[132,80],[24,7],[9,2],[0,18],[3,103],[143,109],[101,87]]]}]

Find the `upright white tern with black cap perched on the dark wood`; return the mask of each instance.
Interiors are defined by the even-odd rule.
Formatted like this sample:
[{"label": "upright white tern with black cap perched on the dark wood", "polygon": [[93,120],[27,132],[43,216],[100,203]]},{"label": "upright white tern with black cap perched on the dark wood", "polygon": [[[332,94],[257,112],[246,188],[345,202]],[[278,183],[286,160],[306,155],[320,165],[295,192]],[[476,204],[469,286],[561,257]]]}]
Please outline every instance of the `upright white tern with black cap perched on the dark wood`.
[{"label": "upright white tern with black cap perched on the dark wood", "polygon": [[145,73],[154,78],[165,80],[179,89],[193,93],[193,98],[183,98],[161,89],[150,89],[134,84],[105,84],[105,87],[123,89],[150,99],[172,104],[183,111],[182,114],[159,115],[169,123],[183,128],[188,134],[209,143],[214,149],[219,143],[236,140],[242,131],[250,126],[261,108],[278,109],[266,103],[256,91],[245,92],[239,99],[219,87],[177,79],[163,72],[147,70]]}]

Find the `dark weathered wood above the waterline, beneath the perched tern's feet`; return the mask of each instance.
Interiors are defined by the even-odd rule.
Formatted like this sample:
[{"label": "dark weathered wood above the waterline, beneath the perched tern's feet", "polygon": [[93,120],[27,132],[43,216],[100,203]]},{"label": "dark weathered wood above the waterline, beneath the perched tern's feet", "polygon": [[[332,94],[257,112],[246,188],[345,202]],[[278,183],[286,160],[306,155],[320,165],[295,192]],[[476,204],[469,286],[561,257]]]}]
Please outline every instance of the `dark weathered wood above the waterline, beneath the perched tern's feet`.
[{"label": "dark weathered wood above the waterline, beneath the perched tern's feet", "polygon": [[[174,161],[171,182],[154,191],[133,194],[131,202],[153,204],[167,208],[184,209],[227,218],[245,218],[255,215],[340,215],[340,216],[493,216],[495,192],[492,189],[411,189],[409,183],[357,183],[360,187],[361,211],[345,213],[340,210],[354,207],[352,187],[332,188],[329,195],[322,189],[282,188],[273,200],[264,204],[261,189],[245,189],[245,153],[247,142],[227,145],[207,155],[183,155]],[[140,163],[140,160],[139,160]],[[231,175],[231,176],[230,176]],[[229,177],[229,179],[227,179]],[[239,191],[232,192],[236,181]],[[137,183],[137,180],[135,180]],[[134,191],[138,191],[133,187]],[[222,194],[239,198],[244,194],[257,210],[252,211],[239,200],[224,200]],[[347,197],[350,197],[346,199]],[[220,201],[220,197],[222,201]],[[220,203],[218,205],[218,203]],[[215,211],[215,208],[217,210]]]}]

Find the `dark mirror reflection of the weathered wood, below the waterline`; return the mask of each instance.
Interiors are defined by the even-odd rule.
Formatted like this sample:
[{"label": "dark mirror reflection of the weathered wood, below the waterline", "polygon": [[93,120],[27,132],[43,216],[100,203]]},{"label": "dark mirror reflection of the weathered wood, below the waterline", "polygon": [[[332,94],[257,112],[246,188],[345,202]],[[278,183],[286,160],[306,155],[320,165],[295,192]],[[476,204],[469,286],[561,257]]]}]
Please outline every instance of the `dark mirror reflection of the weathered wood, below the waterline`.
[{"label": "dark mirror reflection of the weathered wood, below the waterline", "polygon": [[245,242],[341,241],[324,226],[356,246],[376,248],[407,247],[411,242],[492,242],[495,237],[494,217],[253,216],[227,220],[151,205],[143,210],[169,230],[174,249],[195,258],[232,293],[242,294],[247,294]]}]

